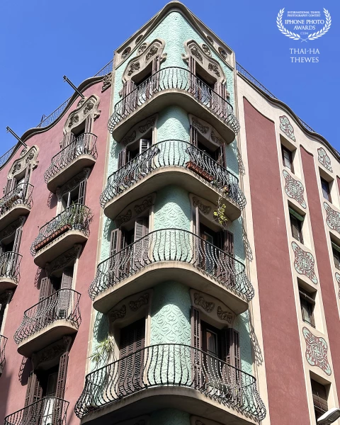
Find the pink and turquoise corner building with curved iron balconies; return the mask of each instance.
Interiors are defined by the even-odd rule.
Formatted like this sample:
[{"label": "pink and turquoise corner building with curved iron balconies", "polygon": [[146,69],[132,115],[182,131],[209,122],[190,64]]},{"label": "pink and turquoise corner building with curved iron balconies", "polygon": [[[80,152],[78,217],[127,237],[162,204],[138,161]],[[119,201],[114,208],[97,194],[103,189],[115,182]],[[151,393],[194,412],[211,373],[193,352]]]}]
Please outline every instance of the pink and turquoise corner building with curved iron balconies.
[{"label": "pink and turquoise corner building with curved iron balconies", "polygon": [[179,2],[78,89],[0,169],[4,423],[339,406],[338,152]]}]

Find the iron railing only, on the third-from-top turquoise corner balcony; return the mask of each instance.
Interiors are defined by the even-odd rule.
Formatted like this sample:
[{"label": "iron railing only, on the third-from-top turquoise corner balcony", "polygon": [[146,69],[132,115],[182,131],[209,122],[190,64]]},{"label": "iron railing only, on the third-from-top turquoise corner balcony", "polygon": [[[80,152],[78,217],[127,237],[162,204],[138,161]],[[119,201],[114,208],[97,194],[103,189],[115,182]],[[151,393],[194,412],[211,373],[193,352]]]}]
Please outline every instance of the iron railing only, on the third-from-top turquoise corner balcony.
[{"label": "iron railing only, on the third-from-top turquoise corner balcony", "polygon": [[254,288],[240,261],[196,234],[182,229],[162,229],[154,230],[99,263],[89,288],[91,299],[160,261],[191,263],[245,300],[254,297]]}]

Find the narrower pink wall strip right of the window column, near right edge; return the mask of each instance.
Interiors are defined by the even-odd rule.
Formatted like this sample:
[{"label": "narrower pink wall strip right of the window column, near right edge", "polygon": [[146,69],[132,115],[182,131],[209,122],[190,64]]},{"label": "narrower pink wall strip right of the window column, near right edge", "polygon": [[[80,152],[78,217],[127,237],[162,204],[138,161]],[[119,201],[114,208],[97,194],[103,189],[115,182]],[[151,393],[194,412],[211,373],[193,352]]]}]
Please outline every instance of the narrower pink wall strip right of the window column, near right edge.
[{"label": "narrower pink wall strip right of the window column, near right edge", "polygon": [[[317,257],[317,268],[319,271],[320,286],[322,287],[322,301],[324,303],[324,317],[326,318],[329,338],[329,348],[333,361],[334,377],[336,382],[340,382],[340,328],[339,313],[336,305],[337,294],[334,290],[333,275],[331,271],[332,259],[329,259],[327,239],[324,234],[324,217],[322,215],[322,205],[320,204],[319,188],[315,174],[314,157],[301,147],[303,174],[305,175],[306,192],[310,205],[310,221],[312,224],[312,234]],[[327,234],[329,237],[329,234]],[[338,397],[340,397],[338,391]]]}]

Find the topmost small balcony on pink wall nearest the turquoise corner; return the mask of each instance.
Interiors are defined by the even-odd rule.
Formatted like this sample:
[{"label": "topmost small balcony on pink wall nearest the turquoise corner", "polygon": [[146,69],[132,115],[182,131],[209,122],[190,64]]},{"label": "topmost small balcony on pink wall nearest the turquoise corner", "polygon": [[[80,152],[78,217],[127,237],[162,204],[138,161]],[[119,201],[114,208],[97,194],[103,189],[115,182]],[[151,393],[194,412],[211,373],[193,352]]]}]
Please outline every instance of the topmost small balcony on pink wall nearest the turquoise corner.
[{"label": "topmost small balcony on pink wall nearest the turquoise corner", "polygon": [[55,193],[58,186],[69,181],[84,167],[95,164],[98,157],[96,140],[96,135],[84,133],[52,158],[44,174],[49,191]]}]

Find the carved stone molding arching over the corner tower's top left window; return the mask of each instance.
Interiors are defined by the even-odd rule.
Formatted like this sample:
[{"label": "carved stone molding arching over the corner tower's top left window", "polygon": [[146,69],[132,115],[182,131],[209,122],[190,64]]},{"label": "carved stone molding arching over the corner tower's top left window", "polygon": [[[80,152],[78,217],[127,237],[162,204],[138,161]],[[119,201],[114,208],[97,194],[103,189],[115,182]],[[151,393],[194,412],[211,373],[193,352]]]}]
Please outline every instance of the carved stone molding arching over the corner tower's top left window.
[{"label": "carved stone molding arching over the corner tower's top left window", "polygon": [[[142,50],[140,50],[141,47]],[[164,47],[165,41],[160,38],[156,38],[150,43],[143,43],[137,51],[137,56],[132,58],[125,67],[123,82],[129,81],[132,78],[132,74],[135,75],[137,72],[142,72],[149,64],[149,60],[156,55],[159,56],[159,63],[164,62],[166,60],[166,53],[163,53]],[[120,94],[123,94],[123,92],[120,91]]]}]

